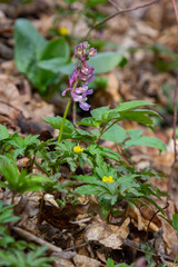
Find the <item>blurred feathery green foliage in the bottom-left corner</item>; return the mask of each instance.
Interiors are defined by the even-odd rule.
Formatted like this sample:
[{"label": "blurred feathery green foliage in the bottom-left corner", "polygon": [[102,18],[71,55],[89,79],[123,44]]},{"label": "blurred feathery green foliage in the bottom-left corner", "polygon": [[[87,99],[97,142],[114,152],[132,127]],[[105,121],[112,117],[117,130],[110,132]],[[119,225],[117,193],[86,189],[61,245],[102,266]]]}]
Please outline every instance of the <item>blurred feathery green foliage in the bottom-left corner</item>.
[{"label": "blurred feathery green foliage in the bottom-left corner", "polygon": [[3,207],[0,201],[0,263],[8,267],[50,267],[55,258],[47,257],[47,247],[37,247],[10,236],[6,224],[18,220],[13,216],[13,206]]}]

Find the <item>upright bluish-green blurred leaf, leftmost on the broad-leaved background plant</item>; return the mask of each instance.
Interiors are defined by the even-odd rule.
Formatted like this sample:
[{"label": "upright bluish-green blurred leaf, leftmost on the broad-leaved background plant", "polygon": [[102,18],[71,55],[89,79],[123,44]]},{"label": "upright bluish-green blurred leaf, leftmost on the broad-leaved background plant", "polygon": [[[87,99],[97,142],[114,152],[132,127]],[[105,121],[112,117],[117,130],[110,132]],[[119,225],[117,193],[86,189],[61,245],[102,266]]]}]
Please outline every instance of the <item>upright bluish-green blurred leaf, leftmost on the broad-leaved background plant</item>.
[{"label": "upright bluish-green blurred leaf, leftmost on the broad-leaved background plant", "polygon": [[40,58],[47,41],[30,21],[18,19],[14,23],[14,43],[16,65],[26,73]]}]

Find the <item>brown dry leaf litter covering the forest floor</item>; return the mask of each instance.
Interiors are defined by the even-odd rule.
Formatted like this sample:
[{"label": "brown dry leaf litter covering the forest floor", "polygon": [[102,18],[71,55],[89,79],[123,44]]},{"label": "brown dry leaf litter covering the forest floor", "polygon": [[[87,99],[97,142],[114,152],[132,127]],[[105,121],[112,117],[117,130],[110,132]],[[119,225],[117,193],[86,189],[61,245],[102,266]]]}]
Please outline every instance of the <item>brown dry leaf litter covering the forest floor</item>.
[{"label": "brown dry leaf litter covering the forest floor", "polygon": [[[40,135],[41,138],[48,139],[48,135],[57,137],[58,131],[53,131],[42,121],[42,118],[60,115],[62,116],[66,101],[60,96],[52,97],[49,101],[42,98],[38,90],[31,86],[27,77],[18,71],[13,59],[13,26],[18,18],[29,19],[40,33],[47,39],[52,28],[57,12],[55,4],[63,6],[62,1],[34,1],[30,4],[19,6],[0,3],[0,123],[8,128],[9,134],[18,132],[22,137],[28,135]],[[139,1],[115,1],[117,7],[127,8],[130,4],[137,6]],[[122,7],[120,7],[122,6]],[[80,4],[77,6],[77,9]],[[98,6],[98,9],[108,16],[116,11],[109,1],[106,4]],[[75,30],[72,29],[72,20],[70,16],[60,19],[56,27],[66,27],[70,34],[80,40],[87,33],[87,26],[81,17]],[[117,48],[119,52],[123,52],[128,63],[121,69],[115,68],[101,77],[108,79],[107,88],[97,88],[93,96],[89,98],[92,108],[102,106],[117,107],[120,101],[129,100],[147,100],[155,103],[162,121],[157,121],[155,132],[146,130],[137,122],[125,121],[125,129],[141,129],[147,136],[154,136],[161,139],[167,151],[160,152],[156,148],[137,146],[129,149],[129,155],[138,169],[152,168],[165,175],[161,179],[151,179],[154,187],[161,190],[168,190],[168,181],[170,179],[171,166],[175,160],[172,125],[174,125],[174,90],[176,87],[176,71],[174,68],[167,69],[167,66],[174,61],[172,57],[164,50],[167,48],[178,52],[177,47],[178,26],[171,1],[159,1],[150,7],[139,9],[134,12],[126,12],[109,20],[101,31],[93,30],[91,38],[93,40],[103,40],[109,44],[105,50]],[[176,58],[175,58],[176,60]],[[83,112],[77,115],[78,119],[82,118]],[[47,135],[48,132],[48,135]],[[117,146],[111,141],[103,141],[102,146],[117,151]],[[18,158],[18,166],[26,167],[27,158]],[[34,170],[37,171],[37,169]],[[66,171],[66,170],[63,170]],[[165,209],[166,215],[171,218],[172,214],[178,212],[178,167],[172,170],[170,184],[169,206]],[[106,225],[102,229],[100,218],[93,214],[98,214],[98,205],[93,205],[92,220],[79,222],[79,229],[61,229],[53,227],[52,216],[56,209],[47,210],[43,222],[39,226],[38,212],[39,202],[42,192],[26,192],[24,198],[14,199],[18,204],[16,214],[20,216],[20,221],[16,222],[11,231],[16,238],[22,237],[24,240],[31,240],[37,244],[53,245],[51,250],[59,258],[56,266],[81,267],[81,266],[106,266],[107,258],[112,258],[116,264],[135,263],[135,267],[144,266],[172,266],[176,253],[178,250],[178,240],[174,228],[159,214],[152,215],[147,207],[140,207],[127,210],[125,224],[119,228],[121,236],[120,248],[115,249],[115,240],[112,245],[100,244],[100,239],[95,241],[86,241],[85,231],[87,231],[91,221],[96,222],[93,229],[88,230],[88,235],[95,235],[95,231],[102,231],[100,235],[109,235]],[[4,205],[11,201],[11,195],[0,188],[0,199]],[[21,204],[19,205],[19,200]],[[52,200],[55,201],[55,199]],[[80,202],[86,205],[86,199],[81,198]],[[93,201],[95,202],[95,201]],[[51,204],[52,205],[52,204]],[[56,202],[55,202],[56,205]],[[166,197],[159,202],[165,208],[167,205]],[[68,209],[68,210],[67,210]],[[61,216],[70,214],[71,207],[59,212],[58,220],[62,220]],[[92,209],[92,207],[90,207]],[[86,211],[85,211],[86,212]],[[83,212],[83,214],[85,214]],[[83,216],[85,218],[85,216]],[[97,218],[97,219],[96,219]],[[73,219],[73,218],[72,218]],[[76,217],[76,221],[80,221],[82,217]],[[117,221],[117,220],[116,220]],[[148,224],[149,229],[148,229]],[[60,224],[60,222],[59,222]],[[98,227],[98,229],[97,229]],[[110,229],[113,234],[115,220],[110,220]],[[85,230],[83,230],[85,229]],[[30,236],[28,235],[30,233]],[[129,238],[127,238],[129,237]],[[39,241],[40,240],[40,241]],[[146,254],[141,245],[149,244],[152,248],[151,253]],[[151,260],[145,263],[145,255],[149,255]],[[147,257],[148,260],[148,257]],[[108,265],[109,266],[109,265]],[[176,265],[175,265],[176,266]]]}]

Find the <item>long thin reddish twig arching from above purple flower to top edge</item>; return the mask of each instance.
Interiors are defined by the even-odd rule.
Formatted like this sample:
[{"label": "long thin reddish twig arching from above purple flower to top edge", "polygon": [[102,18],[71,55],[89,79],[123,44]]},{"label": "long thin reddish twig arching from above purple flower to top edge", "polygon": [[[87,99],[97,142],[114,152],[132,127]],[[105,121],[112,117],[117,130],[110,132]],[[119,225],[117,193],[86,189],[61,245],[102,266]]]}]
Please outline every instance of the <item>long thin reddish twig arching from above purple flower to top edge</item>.
[{"label": "long thin reddish twig arching from above purple flower to top edge", "polygon": [[[142,3],[142,4],[139,4],[137,7],[132,7],[132,8],[128,8],[128,9],[119,9],[117,12],[115,12],[113,14],[109,16],[108,18],[106,18],[105,20],[102,20],[101,22],[98,22],[96,24],[93,24],[89,31],[87,32],[86,37],[83,38],[83,40],[87,40],[87,38],[89,37],[89,34],[91,33],[91,31],[99,27],[99,26],[102,26],[103,23],[106,23],[108,20],[115,18],[116,16],[118,14],[121,14],[121,13],[126,13],[126,12],[130,12],[130,11],[134,11],[134,10],[137,10],[137,9],[141,9],[141,8],[146,8],[146,7],[149,7],[156,2],[159,2],[160,0],[152,0],[152,1],[149,1],[147,3]],[[172,0],[174,1],[174,0]]]}]

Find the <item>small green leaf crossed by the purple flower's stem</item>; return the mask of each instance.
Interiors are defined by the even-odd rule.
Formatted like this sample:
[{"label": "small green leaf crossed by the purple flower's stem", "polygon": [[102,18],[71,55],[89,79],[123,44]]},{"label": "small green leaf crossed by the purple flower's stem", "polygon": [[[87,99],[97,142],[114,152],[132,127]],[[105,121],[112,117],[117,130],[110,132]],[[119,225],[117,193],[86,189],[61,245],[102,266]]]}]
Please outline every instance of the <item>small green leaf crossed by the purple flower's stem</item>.
[{"label": "small green leaf crossed by the purple flower's stem", "polygon": [[[57,117],[48,117],[43,119],[47,123],[52,126],[55,129],[60,130],[61,123],[62,123],[62,117],[57,116]],[[66,119],[65,121],[65,127],[63,127],[63,132],[72,132],[75,129],[73,125]]]}]

